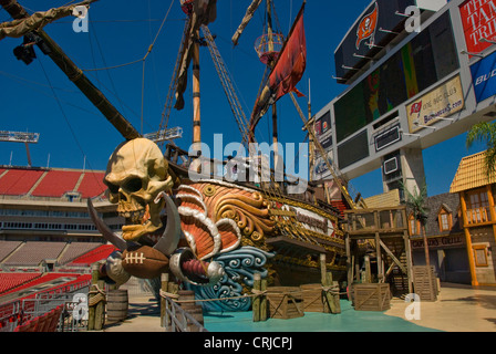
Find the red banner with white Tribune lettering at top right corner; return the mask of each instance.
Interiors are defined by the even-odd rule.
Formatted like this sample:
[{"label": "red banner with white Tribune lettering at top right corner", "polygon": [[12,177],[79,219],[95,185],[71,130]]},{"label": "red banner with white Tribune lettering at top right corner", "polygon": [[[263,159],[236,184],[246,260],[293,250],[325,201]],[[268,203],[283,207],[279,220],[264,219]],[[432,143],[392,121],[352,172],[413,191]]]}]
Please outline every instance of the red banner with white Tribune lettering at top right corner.
[{"label": "red banner with white Tribune lettering at top right corner", "polygon": [[[496,40],[496,0],[468,0],[459,7],[467,52],[480,53]],[[480,42],[480,40],[483,40]]]}]

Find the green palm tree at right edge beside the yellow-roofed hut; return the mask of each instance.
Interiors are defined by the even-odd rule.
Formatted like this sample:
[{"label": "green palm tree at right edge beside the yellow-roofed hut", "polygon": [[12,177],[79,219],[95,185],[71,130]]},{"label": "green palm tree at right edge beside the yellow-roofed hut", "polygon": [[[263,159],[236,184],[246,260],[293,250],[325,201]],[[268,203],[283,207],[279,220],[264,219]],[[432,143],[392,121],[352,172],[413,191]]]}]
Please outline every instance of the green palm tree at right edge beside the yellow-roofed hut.
[{"label": "green palm tree at right edge beside the yellow-roofed hut", "polygon": [[496,121],[493,123],[477,123],[468,131],[466,139],[467,148],[472,147],[476,142],[487,145],[485,167],[486,176],[489,178],[496,171]]}]

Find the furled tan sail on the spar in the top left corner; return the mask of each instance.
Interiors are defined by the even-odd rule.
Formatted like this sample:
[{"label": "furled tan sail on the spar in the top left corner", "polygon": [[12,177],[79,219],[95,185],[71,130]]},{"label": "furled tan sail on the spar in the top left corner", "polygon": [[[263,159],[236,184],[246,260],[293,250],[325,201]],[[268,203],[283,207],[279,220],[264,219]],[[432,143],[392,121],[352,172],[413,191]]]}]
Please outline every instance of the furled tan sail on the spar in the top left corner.
[{"label": "furled tan sail on the spar in the top left corner", "polygon": [[74,10],[76,10],[78,7],[87,7],[91,2],[94,1],[95,0],[83,1],[66,7],[50,9],[48,11],[40,11],[33,13],[27,19],[0,23],[0,40],[4,39],[6,37],[21,38],[29,32],[40,30],[53,21],[65,18],[68,15],[73,15]]}]

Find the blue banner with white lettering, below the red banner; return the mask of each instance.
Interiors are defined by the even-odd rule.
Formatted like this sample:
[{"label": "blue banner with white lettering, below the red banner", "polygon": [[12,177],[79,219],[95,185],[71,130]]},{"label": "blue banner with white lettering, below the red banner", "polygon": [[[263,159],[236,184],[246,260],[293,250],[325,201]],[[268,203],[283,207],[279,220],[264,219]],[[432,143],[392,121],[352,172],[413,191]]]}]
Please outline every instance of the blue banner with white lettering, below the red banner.
[{"label": "blue banner with white lettering, below the red banner", "polygon": [[471,66],[477,103],[496,94],[496,53]]}]

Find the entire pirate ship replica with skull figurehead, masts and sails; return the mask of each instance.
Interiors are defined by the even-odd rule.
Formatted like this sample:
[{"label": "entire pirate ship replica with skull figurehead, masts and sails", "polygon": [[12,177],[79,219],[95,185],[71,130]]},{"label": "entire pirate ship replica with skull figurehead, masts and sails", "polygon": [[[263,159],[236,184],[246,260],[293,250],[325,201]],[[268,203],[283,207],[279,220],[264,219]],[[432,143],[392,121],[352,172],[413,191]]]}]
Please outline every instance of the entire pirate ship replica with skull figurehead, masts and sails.
[{"label": "entire pirate ship replica with skull figurehead, masts and sails", "polygon": [[[322,254],[326,256],[327,271],[335,273],[334,280],[344,280],[345,249],[340,210],[323,198],[324,192],[319,190],[322,188],[319,184],[311,180],[302,184],[298,178],[286,175],[279,168],[282,162],[278,162],[276,102],[285,95],[291,97],[313,139],[314,147],[310,148],[327,156],[309,123],[311,114],[309,117],[303,115],[293,95],[298,94],[296,85],[306,67],[304,2],[285,40],[282,34],[272,31],[272,1],[267,0],[267,32],[256,44],[267,70],[248,121],[208,29],[208,23],[216,18],[217,1],[182,0],[188,19],[161,129],[156,136],[147,136],[149,139],[137,133],[42,29],[50,21],[71,14],[76,6],[91,2],[30,15],[17,1],[0,0],[0,4],[16,20],[3,24],[0,30],[7,35],[30,35],[31,46],[38,44],[126,139],[112,155],[105,176],[108,199],[117,205],[117,211],[125,218],[122,236],[115,235],[99,219],[89,200],[96,227],[121,250],[102,271],[122,283],[130,274],[156,278],[170,269],[176,279],[195,290],[197,298],[226,298],[225,301],[206,304],[216,310],[248,310],[249,298],[229,299],[242,295],[251,288],[255,273],[268,278],[276,285],[320,282],[319,260]],[[254,0],[248,8],[232,38],[235,44],[261,2]],[[260,117],[272,108],[273,168],[259,152],[242,160],[217,162],[202,157],[200,43],[210,51],[246,150],[251,152],[256,143],[255,129]],[[168,128],[173,103],[177,110],[184,106],[187,71],[192,62],[195,156],[192,156],[192,149],[183,150],[174,143],[164,146],[161,140],[161,135]],[[159,142],[159,146],[151,139]],[[326,159],[326,163],[333,171],[331,162]],[[224,174],[225,170],[228,174]],[[345,186],[333,176],[345,204],[353,208],[355,204]],[[303,192],[290,194],[301,185],[307,187]],[[143,264],[144,258],[158,261],[155,266],[145,264],[143,268],[140,261]]]}]

